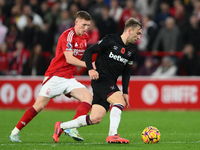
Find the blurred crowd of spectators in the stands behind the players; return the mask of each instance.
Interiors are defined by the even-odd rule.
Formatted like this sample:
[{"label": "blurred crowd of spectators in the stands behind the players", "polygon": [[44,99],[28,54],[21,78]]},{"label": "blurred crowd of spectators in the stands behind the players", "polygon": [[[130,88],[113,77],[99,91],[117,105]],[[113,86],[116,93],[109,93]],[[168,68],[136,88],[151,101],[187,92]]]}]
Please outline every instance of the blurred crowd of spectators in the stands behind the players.
[{"label": "blurred crowd of spectators in the stands behind the players", "polygon": [[79,10],[93,18],[88,46],[142,22],[132,75],[200,75],[200,0],[0,0],[0,75],[44,75]]}]

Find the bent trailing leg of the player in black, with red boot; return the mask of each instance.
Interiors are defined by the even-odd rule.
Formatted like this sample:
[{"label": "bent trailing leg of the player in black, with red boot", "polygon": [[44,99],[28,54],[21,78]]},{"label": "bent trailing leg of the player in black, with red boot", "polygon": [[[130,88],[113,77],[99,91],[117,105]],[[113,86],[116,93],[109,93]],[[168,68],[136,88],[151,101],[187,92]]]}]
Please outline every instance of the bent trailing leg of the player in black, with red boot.
[{"label": "bent trailing leg of the player in black, with red boot", "polygon": [[100,105],[93,105],[90,115],[82,115],[78,118],[68,121],[68,122],[56,122],[57,127],[55,127],[55,132],[53,134],[54,142],[59,141],[60,134],[58,130],[66,130],[72,128],[79,128],[87,125],[98,124],[101,119],[105,116],[106,109]]}]

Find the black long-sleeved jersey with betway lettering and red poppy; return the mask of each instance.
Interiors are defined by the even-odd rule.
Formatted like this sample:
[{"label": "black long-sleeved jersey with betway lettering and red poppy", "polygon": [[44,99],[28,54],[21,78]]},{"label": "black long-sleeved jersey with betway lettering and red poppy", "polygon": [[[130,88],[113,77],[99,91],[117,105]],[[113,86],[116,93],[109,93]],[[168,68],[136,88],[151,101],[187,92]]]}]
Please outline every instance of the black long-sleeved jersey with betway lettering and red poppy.
[{"label": "black long-sleeved jersey with betway lettering and red poppy", "polygon": [[[98,53],[95,65],[99,77],[109,77],[115,82],[122,75],[123,92],[128,93],[131,66],[135,58],[136,50],[134,44],[125,45],[120,34],[107,35],[85,52],[88,70],[93,69],[92,60],[88,56]],[[89,53],[89,55],[88,55]]]}]

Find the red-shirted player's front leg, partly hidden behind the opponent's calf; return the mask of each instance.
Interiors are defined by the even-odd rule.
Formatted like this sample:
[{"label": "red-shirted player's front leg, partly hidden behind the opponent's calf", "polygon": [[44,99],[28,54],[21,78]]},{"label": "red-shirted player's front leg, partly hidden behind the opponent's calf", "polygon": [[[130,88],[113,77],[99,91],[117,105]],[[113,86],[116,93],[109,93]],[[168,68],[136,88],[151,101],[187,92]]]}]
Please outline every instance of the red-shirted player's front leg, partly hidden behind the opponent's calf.
[{"label": "red-shirted player's front leg, partly hidden behind the opponent's calf", "polygon": [[[76,114],[73,119],[76,119],[79,116],[87,115],[91,109],[92,103],[92,94],[89,90],[82,85],[81,83],[77,82],[75,79],[71,79],[70,86],[68,87],[68,91],[70,92],[70,96],[74,97],[75,99],[79,100],[81,104],[78,106],[76,110]],[[81,137],[76,130],[73,129],[66,129],[64,130],[65,134],[72,137],[76,141],[83,141],[83,137]]]}]

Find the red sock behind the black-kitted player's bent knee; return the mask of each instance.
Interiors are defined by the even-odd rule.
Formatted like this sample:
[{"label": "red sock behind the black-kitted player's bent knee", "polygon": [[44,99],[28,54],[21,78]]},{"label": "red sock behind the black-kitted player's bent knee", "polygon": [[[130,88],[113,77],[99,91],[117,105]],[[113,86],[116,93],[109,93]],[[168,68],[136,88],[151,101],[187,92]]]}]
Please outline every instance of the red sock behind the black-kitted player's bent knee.
[{"label": "red sock behind the black-kitted player's bent knee", "polygon": [[76,119],[76,118],[78,118],[79,116],[82,116],[82,115],[87,115],[87,113],[90,111],[90,109],[91,109],[91,105],[89,103],[82,102],[78,106],[78,108],[76,110],[76,114],[75,114],[73,119]]}]

